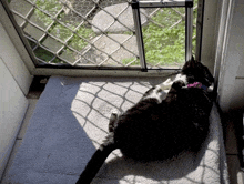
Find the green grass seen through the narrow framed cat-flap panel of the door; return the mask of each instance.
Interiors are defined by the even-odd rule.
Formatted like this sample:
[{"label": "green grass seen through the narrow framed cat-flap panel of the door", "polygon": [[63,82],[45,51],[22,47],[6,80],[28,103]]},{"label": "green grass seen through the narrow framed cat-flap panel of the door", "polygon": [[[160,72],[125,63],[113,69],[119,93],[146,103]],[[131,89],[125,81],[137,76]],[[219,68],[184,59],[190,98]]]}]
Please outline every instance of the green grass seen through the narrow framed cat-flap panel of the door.
[{"label": "green grass seen through the narrow framed cat-flap panel of the door", "polygon": [[[183,12],[182,9],[176,10],[182,14],[184,13],[184,9]],[[194,18],[196,19],[196,10],[194,11]],[[174,10],[161,9],[152,17],[152,21],[142,28],[146,62],[160,65],[184,63],[185,22],[181,21],[170,29],[180,19],[181,17]],[[193,30],[194,35],[195,29]],[[193,50],[194,48],[195,38],[193,39]]]}]

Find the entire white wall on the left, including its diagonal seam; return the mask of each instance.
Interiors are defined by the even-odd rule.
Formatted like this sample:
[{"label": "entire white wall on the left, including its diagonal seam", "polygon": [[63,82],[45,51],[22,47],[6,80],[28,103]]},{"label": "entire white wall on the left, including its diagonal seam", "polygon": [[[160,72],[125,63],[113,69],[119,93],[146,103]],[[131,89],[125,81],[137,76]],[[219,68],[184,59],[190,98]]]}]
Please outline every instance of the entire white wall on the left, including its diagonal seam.
[{"label": "entire white wall on the left, including its diagonal seam", "polygon": [[28,108],[32,78],[0,22],[0,178]]}]

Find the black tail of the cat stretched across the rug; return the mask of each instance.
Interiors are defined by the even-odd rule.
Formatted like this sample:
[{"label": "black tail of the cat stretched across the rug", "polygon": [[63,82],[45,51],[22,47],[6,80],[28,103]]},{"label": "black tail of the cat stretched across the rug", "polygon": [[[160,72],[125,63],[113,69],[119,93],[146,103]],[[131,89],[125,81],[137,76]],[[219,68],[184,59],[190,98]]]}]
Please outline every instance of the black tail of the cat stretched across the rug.
[{"label": "black tail of the cat stretched across the rug", "polygon": [[100,147],[92,155],[91,160],[88,162],[77,184],[90,184],[109,154],[115,149],[118,147],[115,146],[113,141],[113,133],[110,133],[105,142],[100,145]]}]

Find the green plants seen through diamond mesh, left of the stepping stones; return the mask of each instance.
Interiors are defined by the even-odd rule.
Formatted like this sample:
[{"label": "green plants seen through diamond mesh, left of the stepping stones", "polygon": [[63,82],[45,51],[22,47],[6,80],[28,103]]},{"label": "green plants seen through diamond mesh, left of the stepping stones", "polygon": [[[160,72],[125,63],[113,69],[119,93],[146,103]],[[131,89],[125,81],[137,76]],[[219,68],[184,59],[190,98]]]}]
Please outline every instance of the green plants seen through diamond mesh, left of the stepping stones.
[{"label": "green plants seen through diamond mesh, left of the stepping stones", "polygon": [[[62,9],[60,0],[37,0],[35,6],[40,10],[35,9],[34,14],[39,19],[39,21],[43,23],[45,29],[52,24],[51,28],[49,28],[48,32],[51,35],[60,39],[62,42],[67,43],[72,49],[77,51],[82,51],[88,45],[85,39],[90,40],[95,35],[92,29],[87,28],[85,25],[81,25],[77,29],[75,24],[78,23],[72,22],[69,19],[64,19],[64,12],[61,12],[57,17],[57,19],[52,19],[49,14],[54,17]],[[62,22],[63,24],[65,24],[65,27],[59,22]],[[75,54],[72,50],[68,48],[65,48],[62,53],[65,53],[64,55],[67,59],[69,58],[69,55],[70,58],[73,58],[73,55]],[[42,48],[37,49],[34,51],[34,54],[45,62],[50,61],[50,59],[53,58],[52,53],[50,53],[49,51],[44,51],[44,49]],[[60,60],[55,59],[52,62],[60,63]]]}]

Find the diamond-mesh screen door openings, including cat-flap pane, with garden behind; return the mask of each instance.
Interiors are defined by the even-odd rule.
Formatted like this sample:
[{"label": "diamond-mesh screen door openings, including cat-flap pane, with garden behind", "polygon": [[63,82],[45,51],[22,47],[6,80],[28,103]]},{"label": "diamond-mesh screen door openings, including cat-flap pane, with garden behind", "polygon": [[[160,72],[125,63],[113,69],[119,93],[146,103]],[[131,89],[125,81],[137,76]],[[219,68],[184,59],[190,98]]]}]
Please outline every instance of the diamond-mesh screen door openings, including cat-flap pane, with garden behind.
[{"label": "diamond-mesh screen door openings, including cat-flap pane, with garden behind", "polygon": [[[140,65],[131,0],[8,2],[39,64]],[[196,9],[195,6],[194,17]],[[140,12],[149,69],[181,68],[185,47],[184,8],[149,8]],[[195,20],[193,24],[195,28]]]}]

